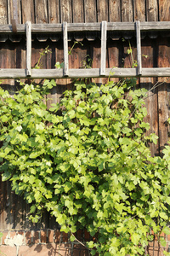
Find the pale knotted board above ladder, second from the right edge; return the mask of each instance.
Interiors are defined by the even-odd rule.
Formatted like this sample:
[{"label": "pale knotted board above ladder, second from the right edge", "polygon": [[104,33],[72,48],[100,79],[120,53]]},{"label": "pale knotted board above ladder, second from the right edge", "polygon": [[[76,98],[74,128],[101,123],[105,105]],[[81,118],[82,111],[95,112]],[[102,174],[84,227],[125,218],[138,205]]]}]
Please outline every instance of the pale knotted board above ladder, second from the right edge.
[{"label": "pale knotted board above ladder, second from the right edge", "polygon": [[158,20],[157,0],[146,0],[146,20],[147,21]]}]

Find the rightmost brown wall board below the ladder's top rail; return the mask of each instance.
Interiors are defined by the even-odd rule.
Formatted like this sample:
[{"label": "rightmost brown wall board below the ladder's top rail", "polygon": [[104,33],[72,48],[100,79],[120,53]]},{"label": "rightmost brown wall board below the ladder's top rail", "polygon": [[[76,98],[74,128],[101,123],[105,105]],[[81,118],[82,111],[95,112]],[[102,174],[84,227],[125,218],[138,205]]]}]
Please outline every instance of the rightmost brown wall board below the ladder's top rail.
[{"label": "rightmost brown wall board below the ladder's top rail", "polygon": [[[157,38],[157,50],[158,50],[158,67],[170,67],[169,54],[170,45],[168,44],[167,38]],[[159,140],[160,140],[160,150],[162,150],[168,140],[168,125],[167,119],[169,117],[168,113],[168,94],[167,88],[169,83],[167,83],[166,78],[162,78],[161,83],[158,87],[158,114],[159,114]]]}]

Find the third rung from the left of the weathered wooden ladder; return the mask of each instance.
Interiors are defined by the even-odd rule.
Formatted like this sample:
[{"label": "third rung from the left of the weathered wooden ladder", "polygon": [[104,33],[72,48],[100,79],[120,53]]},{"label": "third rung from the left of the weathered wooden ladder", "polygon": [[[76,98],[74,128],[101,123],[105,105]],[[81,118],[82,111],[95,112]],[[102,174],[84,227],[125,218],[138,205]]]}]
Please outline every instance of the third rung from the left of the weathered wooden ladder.
[{"label": "third rung from the left of the weathered wooden ladder", "polygon": [[105,76],[106,41],[107,41],[107,21],[102,21],[101,22],[101,61],[100,61],[100,75],[101,76]]}]

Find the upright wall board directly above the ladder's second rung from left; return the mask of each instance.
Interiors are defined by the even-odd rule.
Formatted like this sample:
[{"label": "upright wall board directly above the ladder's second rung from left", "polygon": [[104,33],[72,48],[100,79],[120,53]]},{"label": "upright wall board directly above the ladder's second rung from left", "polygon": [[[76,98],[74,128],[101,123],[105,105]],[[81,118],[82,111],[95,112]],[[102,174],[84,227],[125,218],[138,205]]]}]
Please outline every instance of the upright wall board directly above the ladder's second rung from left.
[{"label": "upright wall board directly above the ladder's second rung from left", "polygon": [[62,0],[60,1],[60,15],[61,23],[66,21],[72,23],[72,4],[71,0]]}]

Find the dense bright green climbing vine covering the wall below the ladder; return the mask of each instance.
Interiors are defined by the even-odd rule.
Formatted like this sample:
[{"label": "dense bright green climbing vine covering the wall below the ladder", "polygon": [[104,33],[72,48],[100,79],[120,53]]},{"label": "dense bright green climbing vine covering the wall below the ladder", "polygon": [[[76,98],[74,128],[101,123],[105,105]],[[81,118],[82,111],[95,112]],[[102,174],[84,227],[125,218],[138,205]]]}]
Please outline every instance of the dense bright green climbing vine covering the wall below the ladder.
[{"label": "dense bright green climbing vine covering the wall below the ladder", "polygon": [[92,255],[143,255],[150,230],[170,233],[170,150],[150,155],[146,90],[81,80],[47,109],[55,85],[25,84],[13,97],[0,89],[3,181],[32,204],[32,221],[47,209],[61,230],[87,229]]}]

